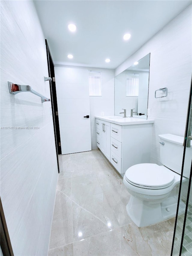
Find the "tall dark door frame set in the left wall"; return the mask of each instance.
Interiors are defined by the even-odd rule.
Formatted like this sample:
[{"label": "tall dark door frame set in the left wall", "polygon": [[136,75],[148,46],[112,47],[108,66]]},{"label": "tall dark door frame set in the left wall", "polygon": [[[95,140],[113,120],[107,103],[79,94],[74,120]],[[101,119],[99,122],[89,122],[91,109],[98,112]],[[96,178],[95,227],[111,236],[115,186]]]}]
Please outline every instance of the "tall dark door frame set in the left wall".
[{"label": "tall dark door frame set in the left wall", "polygon": [[61,155],[61,140],[60,140],[60,131],[59,131],[57,93],[56,93],[56,86],[55,86],[55,71],[54,71],[53,60],[52,60],[49,46],[46,39],[45,39],[45,44],[46,44],[46,52],[47,52],[47,64],[48,64],[49,77],[52,78],[52,81],[49,81],[49,86],[50,86],[50,95],[51,95],[53,127],[54,127],[54,134],[55,134],[55,148],[57,153],[58,173],[60,173],[58,155]]}]

